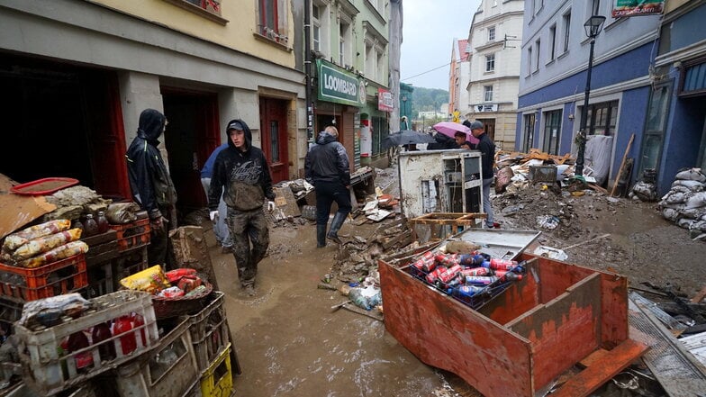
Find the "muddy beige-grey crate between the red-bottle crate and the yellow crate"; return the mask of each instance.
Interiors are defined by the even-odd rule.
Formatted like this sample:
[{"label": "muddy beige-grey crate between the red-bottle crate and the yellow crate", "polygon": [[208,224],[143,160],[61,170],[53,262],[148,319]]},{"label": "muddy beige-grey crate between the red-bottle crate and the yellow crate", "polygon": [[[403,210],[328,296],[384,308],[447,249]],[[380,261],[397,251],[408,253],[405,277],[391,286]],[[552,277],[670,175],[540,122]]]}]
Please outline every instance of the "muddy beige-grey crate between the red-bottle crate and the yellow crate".
[{"label": "muddy beige-grey crate between the red-bottle crate and the yellow crate", "polygon": [[[166,322],[160,321],[160,327]],[[194,390],[201,372],[195,365],[190,325],[189,320],[182,320],[148,354],[118,366],[113,376],[115,390],[121,396],[140,397],[181,397]]]}]

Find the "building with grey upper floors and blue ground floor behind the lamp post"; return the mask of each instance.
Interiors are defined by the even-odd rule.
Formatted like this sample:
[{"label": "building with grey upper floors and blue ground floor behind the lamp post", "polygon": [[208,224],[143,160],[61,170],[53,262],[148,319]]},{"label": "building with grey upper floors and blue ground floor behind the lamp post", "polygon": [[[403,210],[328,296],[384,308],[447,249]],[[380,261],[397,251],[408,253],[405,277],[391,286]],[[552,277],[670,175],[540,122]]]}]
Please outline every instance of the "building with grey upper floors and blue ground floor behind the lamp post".
[{"label": "building with grey upper floors and blue ground floor behind the lamp post", "polygon": [[[525,152],[535,148],[556,155],[576,153],[576,132],[588,106],[588,140],[604,136],[610,144],[604,149],[609,152],[602,153],[609,158],[606,183],[617,177],[626,149],[629,158],[636,158],[644,140],[647,104],[656,82],[660,19],[613,17],[612,3],[525,2],[515,144]],[[590,55],[584,23],[592,15],[606,20],[595,39],[590,98],[584,104]]]}]

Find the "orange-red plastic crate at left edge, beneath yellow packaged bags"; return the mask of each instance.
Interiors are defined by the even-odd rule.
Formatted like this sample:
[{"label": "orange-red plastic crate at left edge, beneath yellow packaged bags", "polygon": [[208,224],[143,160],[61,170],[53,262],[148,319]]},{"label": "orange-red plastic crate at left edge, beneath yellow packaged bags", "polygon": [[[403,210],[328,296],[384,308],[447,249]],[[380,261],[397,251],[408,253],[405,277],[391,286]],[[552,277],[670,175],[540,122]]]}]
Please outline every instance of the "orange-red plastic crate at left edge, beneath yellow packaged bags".
[{"label": "orange-red plastic crate at left edge, beneath yellow packaged bags", "polygon": [[88,285],[85,254],[34,268],[0,264],[0,295],[23,302],[72,293]]}]

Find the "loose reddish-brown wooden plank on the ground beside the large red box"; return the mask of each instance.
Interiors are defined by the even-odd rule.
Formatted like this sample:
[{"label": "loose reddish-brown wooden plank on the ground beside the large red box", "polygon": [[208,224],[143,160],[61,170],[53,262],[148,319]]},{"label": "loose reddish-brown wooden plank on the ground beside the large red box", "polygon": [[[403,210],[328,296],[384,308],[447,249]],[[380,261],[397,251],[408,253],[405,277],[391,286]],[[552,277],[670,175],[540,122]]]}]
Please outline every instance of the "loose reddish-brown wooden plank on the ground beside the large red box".
[{"label": "loose reddish-brown wooden plank on the ground beside the large red box", "polygon": [[647,346],[632,339],[626,339],[620,345],[607,352],[607,355],[564,383],[553,397],[584,397],[606,383],[613,376],[620,374],[639,356],[647,351]]}]

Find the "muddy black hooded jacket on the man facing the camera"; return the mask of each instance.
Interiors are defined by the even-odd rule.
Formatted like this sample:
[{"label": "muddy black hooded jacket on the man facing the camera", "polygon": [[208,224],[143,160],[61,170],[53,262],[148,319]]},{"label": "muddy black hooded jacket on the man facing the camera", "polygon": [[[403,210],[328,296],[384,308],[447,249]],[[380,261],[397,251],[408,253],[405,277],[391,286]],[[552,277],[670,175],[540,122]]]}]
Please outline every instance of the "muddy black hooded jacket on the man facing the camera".
[{"label": "muddy black hooded jacket on the man facing the camera", "polygon": [[269,174],[265,154],[261,149],[252,146],[252,132],[248,124],[235,119],[226,125],[231,125],[232,122],[242,124],[246,149],[243,151],[236,148],[229,136],[228,148],[222,149],[216,157],[208,194],[208,208],[211,211],[218,211],[221,195],[229,208],[238,211],[262,208],[266,198],[275,200],[272,176]]}]

